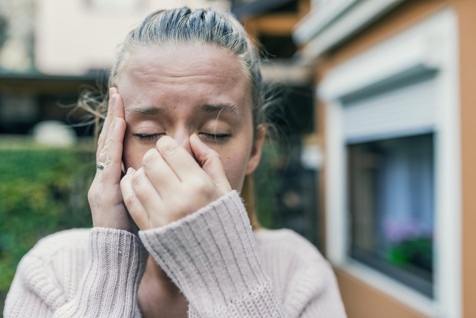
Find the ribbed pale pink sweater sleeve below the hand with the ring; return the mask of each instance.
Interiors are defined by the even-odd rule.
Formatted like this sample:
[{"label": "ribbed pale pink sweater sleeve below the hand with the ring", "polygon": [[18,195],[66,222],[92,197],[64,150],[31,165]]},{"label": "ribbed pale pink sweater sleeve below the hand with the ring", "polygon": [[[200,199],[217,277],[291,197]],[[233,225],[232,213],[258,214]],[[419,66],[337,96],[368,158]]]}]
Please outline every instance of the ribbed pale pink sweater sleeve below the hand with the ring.
[{"label": "ribbed pale pink sweater sleeve below the hand with the ring", "polygon": [[89,263],[77,297],[55,316],[132,316],[148,253],[139,238],[125,230],[93,228]]}]

